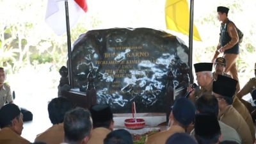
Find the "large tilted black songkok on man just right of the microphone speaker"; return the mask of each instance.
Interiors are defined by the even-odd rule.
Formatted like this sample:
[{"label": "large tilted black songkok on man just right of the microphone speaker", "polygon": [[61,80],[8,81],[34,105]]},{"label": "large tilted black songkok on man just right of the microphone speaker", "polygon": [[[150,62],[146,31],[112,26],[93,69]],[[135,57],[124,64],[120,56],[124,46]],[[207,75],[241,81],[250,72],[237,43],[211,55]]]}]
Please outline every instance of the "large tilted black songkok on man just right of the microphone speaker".
[{"label": "large tilted black songkok on man just right of the microphone speaker", "polygon": [[230,77],[218,75],[217,81],[212,83],[212,92],[218,93],[223,97],[232,98],[236,93],[237,80]]}]

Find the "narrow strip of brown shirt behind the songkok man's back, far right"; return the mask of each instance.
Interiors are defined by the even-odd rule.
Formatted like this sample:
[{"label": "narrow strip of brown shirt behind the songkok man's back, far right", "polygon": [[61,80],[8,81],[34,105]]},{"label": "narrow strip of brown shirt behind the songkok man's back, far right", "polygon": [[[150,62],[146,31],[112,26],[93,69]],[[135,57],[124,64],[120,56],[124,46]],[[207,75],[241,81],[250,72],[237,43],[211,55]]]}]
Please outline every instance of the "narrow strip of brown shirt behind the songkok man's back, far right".
[{"label": "narrow strip of brown shirt behind the songkok man's back, far right", "polygon": [[244,104],[236,97],[233,98],[233,104],[232,106],[237,110],[237,112],[244,118],[244,121],[248,125],[251,134],[252,134],[252,140],[255,141],[255,129],[254,124],[252,121],[252,116],[250,115],[248,109]]}]

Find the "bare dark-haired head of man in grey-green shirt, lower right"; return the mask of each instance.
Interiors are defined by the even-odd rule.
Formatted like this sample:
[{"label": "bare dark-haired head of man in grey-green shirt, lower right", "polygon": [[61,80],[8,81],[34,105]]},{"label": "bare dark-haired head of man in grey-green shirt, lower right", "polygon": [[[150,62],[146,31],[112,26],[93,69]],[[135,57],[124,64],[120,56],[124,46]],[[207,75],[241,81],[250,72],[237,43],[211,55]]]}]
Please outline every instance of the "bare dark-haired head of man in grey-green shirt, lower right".
[{"label": "bare dark-haired head of man in grey-green shirt, lower right", "polygon": [[209,113],[215,116],[219,114],[218,100],[213,95],[204,93],[195,102],[198,113]]}]

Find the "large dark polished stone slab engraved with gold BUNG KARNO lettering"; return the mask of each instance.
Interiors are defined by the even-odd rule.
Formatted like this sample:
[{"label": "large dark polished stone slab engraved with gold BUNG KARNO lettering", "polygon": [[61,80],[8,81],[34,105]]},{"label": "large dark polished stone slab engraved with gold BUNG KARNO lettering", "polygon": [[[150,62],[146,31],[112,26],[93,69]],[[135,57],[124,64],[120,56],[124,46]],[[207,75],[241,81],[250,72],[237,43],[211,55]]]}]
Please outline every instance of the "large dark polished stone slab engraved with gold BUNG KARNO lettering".
[{"label": "large dark polished stone slab engraved with gold BUNG KARNO lettering", "polygon": [[[114,113],[162,113],[169,108],[167,74],[177,88],[188,74],[188,47],[164,31],[149,28],[92,30],[80,35],[72,49],[74,87],[85,92],[89,72],[94,76],[97,103],[110,104]],[[180,78],[181,77],[181,78]]]}]

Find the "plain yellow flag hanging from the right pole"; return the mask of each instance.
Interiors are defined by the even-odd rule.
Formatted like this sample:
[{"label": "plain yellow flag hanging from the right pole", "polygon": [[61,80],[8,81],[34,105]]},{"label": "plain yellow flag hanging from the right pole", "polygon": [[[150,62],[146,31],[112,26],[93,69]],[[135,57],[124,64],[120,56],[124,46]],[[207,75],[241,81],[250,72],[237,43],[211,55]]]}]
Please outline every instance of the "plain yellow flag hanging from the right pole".
[{"label": "plain yellow flag hanging from the right pole", "polygon": [[[189,10],[186,0],[166,0],[165,3],[166,28],[189,35]],[[193,24],[193,39],[202,41]]]}]

